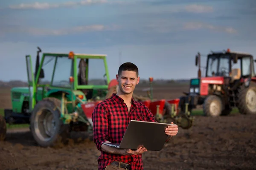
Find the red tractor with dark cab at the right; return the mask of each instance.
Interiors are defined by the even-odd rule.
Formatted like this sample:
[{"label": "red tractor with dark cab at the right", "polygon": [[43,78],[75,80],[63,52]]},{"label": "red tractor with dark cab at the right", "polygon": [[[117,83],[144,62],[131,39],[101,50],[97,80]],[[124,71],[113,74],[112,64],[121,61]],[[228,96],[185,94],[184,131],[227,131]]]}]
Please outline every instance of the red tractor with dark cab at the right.
[{"label": "red tractor with dark cab at the right", "polygon": [[189,111],[203,105],[205,116],[229,115],[237,107],[241,114],[256,114],[256,74],[251,54],[230,51],[207,55],[205,77],[201,77],[200,53],[196,56],[198,78],[190,80],[189,92],[180,97],[179,107]]}]

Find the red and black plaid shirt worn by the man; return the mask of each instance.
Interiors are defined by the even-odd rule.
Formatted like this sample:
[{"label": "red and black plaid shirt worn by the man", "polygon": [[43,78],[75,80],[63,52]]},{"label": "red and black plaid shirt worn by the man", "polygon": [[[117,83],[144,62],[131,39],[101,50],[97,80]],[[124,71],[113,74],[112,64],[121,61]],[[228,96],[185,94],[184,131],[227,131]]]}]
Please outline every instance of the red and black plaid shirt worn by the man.
[{"label": "red and black plaid shirt worn by the man", "polygon": [[109,99],[105,99],[94,108],[92,116],[93,140],[98,150],[101,151],[98,159],[99,170],[104,170],[113,161],[131,164],[132,170],[143,170],[142,154],[124,156],[101,150],[102,142],[120,143],[122,141],[122,136],[125,134],[131,119],[157,122],[149,109],[134,99],[132,99],[129,113],[124,100],[116,94],[113,94]]}]

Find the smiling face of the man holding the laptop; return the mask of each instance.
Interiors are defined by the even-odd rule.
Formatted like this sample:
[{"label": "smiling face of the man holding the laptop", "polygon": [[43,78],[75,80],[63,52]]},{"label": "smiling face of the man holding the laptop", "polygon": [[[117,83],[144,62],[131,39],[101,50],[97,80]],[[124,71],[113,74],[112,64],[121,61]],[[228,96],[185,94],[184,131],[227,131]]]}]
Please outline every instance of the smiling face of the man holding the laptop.
[{"label": "smiling face of the man holding the laptop", "polygon": [[140,77],[136,76],[135,71],[122,71],[120,76],[116,74],[116,80],[119,82],[119,90],[123,94],[131,94],[139,83]]}]

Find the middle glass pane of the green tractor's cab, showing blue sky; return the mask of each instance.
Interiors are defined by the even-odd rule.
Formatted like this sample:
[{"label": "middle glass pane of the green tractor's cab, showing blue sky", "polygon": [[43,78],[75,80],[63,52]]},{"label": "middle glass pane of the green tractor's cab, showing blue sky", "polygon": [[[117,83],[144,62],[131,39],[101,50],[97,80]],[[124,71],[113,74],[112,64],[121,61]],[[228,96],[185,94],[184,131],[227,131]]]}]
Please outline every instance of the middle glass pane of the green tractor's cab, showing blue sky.
[{"label": "middle glass pane of the green tractor's cab, showing blue sky", "polygon": [[73,76],[73,60],[68,57],[56,57],[55,71],[52,77],[52,86],[69,88],[69,77]]}]

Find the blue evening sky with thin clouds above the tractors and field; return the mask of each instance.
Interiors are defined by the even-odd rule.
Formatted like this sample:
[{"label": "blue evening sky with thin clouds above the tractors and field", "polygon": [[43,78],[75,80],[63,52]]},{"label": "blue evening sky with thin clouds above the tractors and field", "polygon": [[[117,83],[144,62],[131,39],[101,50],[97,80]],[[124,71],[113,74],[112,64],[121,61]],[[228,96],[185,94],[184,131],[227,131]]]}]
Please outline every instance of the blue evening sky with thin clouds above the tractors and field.
[{"label": "blue evening sky with thin clouds above the tractors and field", "polygon": [[255,0],[1,1],[0,80],[26,81],[25,56],[35,64],[37,46],[107,54],[111,79],[123,62],[136,64],[141,79],[194,78],[198,52],[256,56],[255,28]]}]

